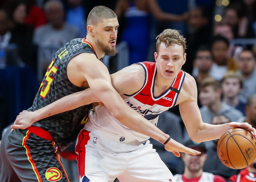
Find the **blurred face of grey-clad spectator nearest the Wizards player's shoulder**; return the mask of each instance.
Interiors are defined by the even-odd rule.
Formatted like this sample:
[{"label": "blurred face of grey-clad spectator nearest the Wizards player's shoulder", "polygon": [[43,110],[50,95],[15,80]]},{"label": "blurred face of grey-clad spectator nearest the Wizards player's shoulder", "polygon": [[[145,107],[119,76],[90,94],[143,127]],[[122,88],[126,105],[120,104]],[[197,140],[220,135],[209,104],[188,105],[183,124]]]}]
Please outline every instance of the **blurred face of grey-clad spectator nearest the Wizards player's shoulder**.
[{"label": "blurred face of grey-clad spectator nearest the Wizards player's shoulder", "polygon": [[209,85],[200,90],[199,100],[202,105],[211,105],[220,100],[221,90],[220,88],[214,90],[213,86]]}]

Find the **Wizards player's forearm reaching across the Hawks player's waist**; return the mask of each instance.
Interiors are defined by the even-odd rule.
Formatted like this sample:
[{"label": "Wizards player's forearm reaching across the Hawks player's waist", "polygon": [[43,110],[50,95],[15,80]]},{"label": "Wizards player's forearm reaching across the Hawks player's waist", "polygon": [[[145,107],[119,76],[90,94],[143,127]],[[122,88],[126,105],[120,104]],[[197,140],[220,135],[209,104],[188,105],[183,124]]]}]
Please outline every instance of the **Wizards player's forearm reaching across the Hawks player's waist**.
[{"label": "Wizards player's forearm reaching across the Hawks player's waist", "polygon": [[99,101],[90,88],[62,97],[55,102],[35,111],[35,122],[61,112],[76,109],[83,105]]}]

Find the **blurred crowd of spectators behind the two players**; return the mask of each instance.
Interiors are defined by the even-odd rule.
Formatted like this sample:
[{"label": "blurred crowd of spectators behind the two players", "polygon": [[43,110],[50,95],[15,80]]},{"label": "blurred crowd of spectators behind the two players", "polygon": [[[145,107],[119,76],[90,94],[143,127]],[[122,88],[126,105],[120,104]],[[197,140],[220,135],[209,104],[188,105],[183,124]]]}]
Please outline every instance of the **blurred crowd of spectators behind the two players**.
[{"label": "blurred crowd of spectators behind the two players", "polygon": [[[54,53],[71,39],[86,36],[87,15],[97,5],[114,10],[120,24],[118,54],[103,59],[110,73],[133,63],[154,61],[156,35],[163,29],[180,30],[187,41],[187,61],[182,69],[197,83],[203,122],[245,121],[256,128],[256,0],[0,1],[0,73],[10,66],[26,67],[34,73],[34,82],[40,83]],[[10,99],[1,89],[5,87],[0,87],[1,109],[13,109],[6,107]],[[13,121],[1,122],[0,131]],[[161,114],[157,125],[176,141],[189,141],[178,108]],[[189,161],[194,160],[201,160],[197,168],[227,181],[240,172],[220,162],[218,141],[204,143],[202,153],[208,158],[182,159],[157,141],[151,142],[173,174],[186,172]],[[66,156],[66,165],[71,165],[68,161],[74,157]],[[256,172],[253,167],[250,170]]]}]

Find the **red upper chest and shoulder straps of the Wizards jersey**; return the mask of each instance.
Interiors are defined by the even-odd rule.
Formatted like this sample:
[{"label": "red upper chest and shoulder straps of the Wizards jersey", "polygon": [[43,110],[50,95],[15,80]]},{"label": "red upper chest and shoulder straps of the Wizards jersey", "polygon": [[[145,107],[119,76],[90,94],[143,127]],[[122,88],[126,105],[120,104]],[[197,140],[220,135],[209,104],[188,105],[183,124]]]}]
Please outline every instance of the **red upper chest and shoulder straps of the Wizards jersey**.
[{"label": "red upper chest and shoulder straps of the Wizards jersey", "polygon": [[[175,104],[178,94],[175,91],[168,89],[159,97],[154,97],[153,91],[154,91],[155,77],[157,73],[157,70],[156,70],[157,64],[152,62],[142,62],[142,64],[145,65],[147,69],[147,73],[148,73],[146,75],[147,82],[145,83],[144,88],[142,88],[142,90],[140,90],[133,97],[143,104],[147,104],[151,106],[154,104],[158,104],[164,107],[171,107],[173,104]],[[176,88],[177,90],[180,90],[182,87],[181,84],[184,80],[184,77],[185,77],[185,73],[183,71],[180,71],[176,76],[174,82],[172,83],[171,87]]]}]

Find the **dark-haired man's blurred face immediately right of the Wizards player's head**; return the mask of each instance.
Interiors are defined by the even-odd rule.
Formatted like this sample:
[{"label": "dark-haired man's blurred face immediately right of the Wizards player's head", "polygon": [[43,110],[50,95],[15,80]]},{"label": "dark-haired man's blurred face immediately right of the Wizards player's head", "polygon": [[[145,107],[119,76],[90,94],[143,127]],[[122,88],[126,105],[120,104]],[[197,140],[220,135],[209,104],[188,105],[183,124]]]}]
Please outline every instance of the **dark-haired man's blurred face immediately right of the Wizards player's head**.
[{"label": "dark-haired man's blurred face immediately right of the Wizards player's head", "polygon": [[197,66],[199,73],[208,73],[213,65],[211,52],[207,50],[197,51],[195,57],[195,66]]}]

